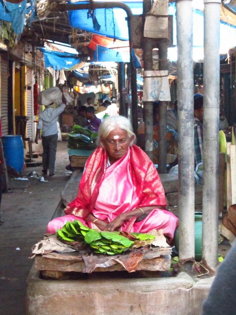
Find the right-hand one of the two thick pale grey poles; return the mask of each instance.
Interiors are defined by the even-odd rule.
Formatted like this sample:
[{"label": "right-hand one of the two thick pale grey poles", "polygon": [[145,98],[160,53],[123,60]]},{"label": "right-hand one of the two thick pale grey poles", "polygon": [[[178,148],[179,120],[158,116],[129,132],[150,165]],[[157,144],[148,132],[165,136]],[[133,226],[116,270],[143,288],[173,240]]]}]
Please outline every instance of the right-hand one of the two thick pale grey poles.
[{"label": "right-hand one of the two thick pale grey poles", "polygon": [[[202,260],[216,271],[220,105],[220,0],[204,0],[203,241]],[[209,242],[209,239],[211,240]]]}]

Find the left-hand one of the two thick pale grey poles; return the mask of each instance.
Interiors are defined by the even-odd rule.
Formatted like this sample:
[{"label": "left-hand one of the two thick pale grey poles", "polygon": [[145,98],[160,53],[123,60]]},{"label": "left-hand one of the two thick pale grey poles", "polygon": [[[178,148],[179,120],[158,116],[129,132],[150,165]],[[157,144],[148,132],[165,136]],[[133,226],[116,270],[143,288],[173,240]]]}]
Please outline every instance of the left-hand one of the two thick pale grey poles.
[{"label": "left-hand one of the two thick pale grey poles", "polygon": [[[177,0],[179,262],[194,262],[194,105],[192,0]],[[190,264],[189,264],[190,261]]]}]

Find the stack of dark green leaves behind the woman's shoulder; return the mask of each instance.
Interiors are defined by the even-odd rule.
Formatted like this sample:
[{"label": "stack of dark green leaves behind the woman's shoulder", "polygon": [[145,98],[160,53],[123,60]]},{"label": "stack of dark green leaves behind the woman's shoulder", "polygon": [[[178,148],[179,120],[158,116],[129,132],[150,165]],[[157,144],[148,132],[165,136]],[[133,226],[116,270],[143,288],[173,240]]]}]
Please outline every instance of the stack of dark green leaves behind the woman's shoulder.
[{"label": "stack of dark green leaves behind the woman's shoulder", "polygon": [[79,125],[74,125],[67,138],[67,147],[70,149],[94,150],[97,147],[97,138],[97,132],[92,132]]}]

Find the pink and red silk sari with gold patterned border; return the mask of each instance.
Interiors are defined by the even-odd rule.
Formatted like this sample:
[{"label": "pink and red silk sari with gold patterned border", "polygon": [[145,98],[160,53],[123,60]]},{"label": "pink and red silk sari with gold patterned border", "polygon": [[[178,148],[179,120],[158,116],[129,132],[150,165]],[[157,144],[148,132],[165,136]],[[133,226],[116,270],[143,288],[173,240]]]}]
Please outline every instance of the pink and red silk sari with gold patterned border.
[{"label": "pink and red silk sari with gold patterned border", "polygon": [[163,230],[171,242],[178,219],[165,208],[166,198],[160,177],[154,164],[138,146],[132,145],[126,155],[107,166],[107,153],[98,147],[88,158],[77,198],[68,204],[66,215],[49,222],[48,233],[55,233],[67,221],[80,220],[90,228],[96,223],[85,221],[89,213],[107,223],[121,213],[137,207],[156,206],[145,219],[137,217],[124,222],[120,231],[147,233]]}]

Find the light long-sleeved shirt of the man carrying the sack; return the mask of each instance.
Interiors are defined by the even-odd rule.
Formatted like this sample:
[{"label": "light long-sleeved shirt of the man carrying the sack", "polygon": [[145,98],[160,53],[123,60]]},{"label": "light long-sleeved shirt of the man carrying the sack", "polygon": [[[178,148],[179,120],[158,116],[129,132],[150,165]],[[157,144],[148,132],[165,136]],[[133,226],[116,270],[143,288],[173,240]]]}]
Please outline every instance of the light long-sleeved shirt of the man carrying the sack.
[{"label": "light long-sleeved shirt of the man carrying the sack", "polygon": [[45,108],[45,110],[39,114],[37,129],[42,129],[42,136],[50,136],[58,133],[57,130],[57,118],[60,113],[65,109],[65,104],[61,104],[58,108]]}]

